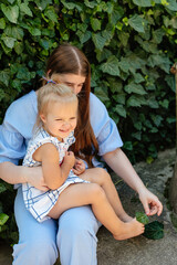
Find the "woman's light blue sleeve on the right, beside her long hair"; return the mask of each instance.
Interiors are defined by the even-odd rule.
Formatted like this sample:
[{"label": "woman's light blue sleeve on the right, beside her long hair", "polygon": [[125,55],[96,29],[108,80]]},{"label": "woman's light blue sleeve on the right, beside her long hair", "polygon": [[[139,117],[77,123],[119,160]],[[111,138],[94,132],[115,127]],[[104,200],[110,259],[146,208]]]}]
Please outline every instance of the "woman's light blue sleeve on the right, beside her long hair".
[{"label": "woman's light blue sleeve on the right, beside her long hair", "polygon": [[91,125],[98,142],[98,155],[103,156],[122,147],[123,141],[104,104],[92,93],[90,99]]}]

